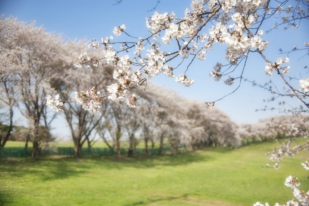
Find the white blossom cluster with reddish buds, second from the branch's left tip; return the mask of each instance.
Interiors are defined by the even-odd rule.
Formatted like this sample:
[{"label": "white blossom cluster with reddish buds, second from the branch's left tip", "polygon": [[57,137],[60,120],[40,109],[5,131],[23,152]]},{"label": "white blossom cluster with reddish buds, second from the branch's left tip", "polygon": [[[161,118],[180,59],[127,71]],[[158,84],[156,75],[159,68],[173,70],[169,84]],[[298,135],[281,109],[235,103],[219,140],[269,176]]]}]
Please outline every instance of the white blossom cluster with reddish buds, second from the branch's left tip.
[{"label": "white blossom cluster with reddish buds, second from the branch's left tip", "polygon": [[74,94],[77,104],[82,105],[85,110],[95,113],[101,107],[102,94],[95,87],[89,88],[86,92],[74,92]]}]

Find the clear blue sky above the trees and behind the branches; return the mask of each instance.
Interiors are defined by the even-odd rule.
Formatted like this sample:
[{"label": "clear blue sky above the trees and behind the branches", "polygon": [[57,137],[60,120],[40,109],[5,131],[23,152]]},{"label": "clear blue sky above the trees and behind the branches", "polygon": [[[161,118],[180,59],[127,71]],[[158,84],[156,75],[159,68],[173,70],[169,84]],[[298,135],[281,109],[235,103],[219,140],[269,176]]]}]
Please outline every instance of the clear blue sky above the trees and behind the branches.
[{"label": "clear blue sky above the trees and behind the branches", "polygon": [[[71,39],[86,38],[91,40],[113,35],[114,26],[126,25],[126,31],[133,36],[146,36],[149,34],[145,25],[145,17],[153,15],[150,10],[155,6],[157,0],[138,1],[123,0],[118,5],[113,5],[116,1],[39,1],[39,0],[0,0],[0,14],[5,13],[5,17],[18,17],[19,21],[36,21],[36,25],[43,25],[46,31],[62,33]],[[182,17],[186,7],[190,7],[189,0],[161,0],[157,9],[159,13],[174,11],[177,17]],[[294,3],[294,2],[291,2]],[[273,24],[273,19],[269,19],[261,29],[268,30]],[[304,41],[308,38],[308,22],[303,21],[297,29],[278,29],[270,34],[264,34],[263,40],[270,41],[270,45],[265,51],[265,55],[275,61],[278,57],[286,57],[278,54],[278,49],[289,50],[294,45],[303,47]],[[121,36],[123,38],[123,35]],[[153,78],[156,84],[173,88],[180,95],[200,101],[214,101],[231,92],[238,84],[227,86],[222,79],[215,82],[209,73],[216,62],[224,61],[224,45],[218,45],[214,51],[206,53],[204,61],[195,61],[191,66],[188,76],[196,82],[193,86],[185,88],[176,83],[174,79],[168,79],[163,75]],[[303,66],[308,63],[308,58],[297,61],[303,53],[290,54],[290,76],[299,77],[303,72]],[[265,62],[258,55],[251,55],[248,58],[248,66],[244,72],[244,77],[265,83],[270,78],[265,75]],[[183,73],[186,65],[179,68],[179,73]],[[238,69],[240,70],[240,68]],[[240,71],[237,72],[239,74]],[[303,72],[304,73],[304,72]],[[236,77],[236,75],[234,76]],[[303,76],[307,77],[307,76]],[[278,88],[283,87],[278,75],[273,75],[271,79],[278,82]],[[298,82],[296,82],[298,87]],[[228,114],[237,123],[253,123],[260,118],[277,115],[276,112],[255,112],[265,105],[263,99],[271,95],[261,88],[252,87],[250,83],[243,82],[240,89],[233,95],[217,102],[216,106]],[[291,104],[298,105],[298,101],[291,100]],[[276,105],[276,104],[272,104]]]}]

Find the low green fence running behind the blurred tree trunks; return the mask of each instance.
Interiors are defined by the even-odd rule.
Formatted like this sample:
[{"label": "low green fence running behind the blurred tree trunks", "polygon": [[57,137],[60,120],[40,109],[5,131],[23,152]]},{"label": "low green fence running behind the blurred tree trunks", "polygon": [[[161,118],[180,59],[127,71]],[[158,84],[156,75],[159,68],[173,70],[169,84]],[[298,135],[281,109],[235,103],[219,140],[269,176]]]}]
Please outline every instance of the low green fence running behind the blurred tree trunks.
[{"label": "low green fence running behind the blurred tree trunks", "polygon": [[[182,147],[180,147],[182,148]],[[122,155],[128,153],[129,149],[121,148],[120,152]],[[163,147],[162,152],[169,151],[169,147]],[[133,149],[133,154],[144,154],[144,148]],[[116,154],[113,148],[82,148],[82,155],[112,155]],[[148,154],[159,154],[159,148],[149,148]],[[0,147],[0,158],[7,157],[31,157],[32,148],[22,148],[22,147]],[[42,149],[40,152],[41,157],[46,156],[73,156],[74,148],[71,147],[51,147]]]}]

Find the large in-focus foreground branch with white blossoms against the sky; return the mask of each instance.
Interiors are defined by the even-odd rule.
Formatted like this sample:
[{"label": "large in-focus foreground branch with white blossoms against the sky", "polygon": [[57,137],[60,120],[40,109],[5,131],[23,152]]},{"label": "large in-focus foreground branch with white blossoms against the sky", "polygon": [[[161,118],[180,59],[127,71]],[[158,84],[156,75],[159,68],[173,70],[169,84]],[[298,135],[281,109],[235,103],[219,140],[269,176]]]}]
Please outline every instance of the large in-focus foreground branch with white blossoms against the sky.
[{"label": "large in-focus foreground branch with white blossoms against the sky", "polygon": [[[227,46],[225,58],[229,61],[229,64],[225,65],[228,68],[221,72],[221,68],[224,66],[218,63],[215,65],[214,71],[210,73],[210,76],[215,81],[219,81],[222,76],[227,75],[227,79],[224,80],[225,84],[233,85],[239,79],[239,85],[233,92],[217,101],[234,93],[240,87],[248,55],[249,53],[257,52],[266,62],[266,74],[272,75],[273,71],[277,71],[283,81],[294,92],[294,95],[309,108],[303,100],[304,98],[299,96],[299,94],[303,94],[308,97],[309,87],[307,88],[307,84],[309,85],[309,78],[302,80],[299,90],[293,88],[284,78],[290,67],[281,66],[282,63],[288,63],[289,59],[285,58],[283,60],[278,58],[276,62],[272,63],[262,53],[269,42],[262,40],[261,36],[264,32],[259,28],[265,19],[280,13],[286,3],[287,1],[281,2],[279,6],[271,6],[270,0],[244,0],[242,2],[235,0],[221,0],[219,2],[217,0],[193,0],[191,2],[191,9],[187,8],[182,18],[177,18],[174,12],[171,14],[155,12],[150,19],[146,18],[146,27],[150,30],[151,34],[145,38],[129,34],[125,31],[126,27],[124,24],[114,27],[113,34],[115,36],[124,34],[130,40],[113,42],[113,36],[102,38],[101,42],[93,39],[88,47],[93,49],[100,47],[103,57],[91,57],[84,53],[78,58],[75,66],[82,67],[82,65],[88,65],[90,67],[93,65],[97,67],[105,64],[114,66],[113,78],[115,83],[107,87],[109,94],[97,97],[96,95],[87,96],[87,94],[77,92],[79,98],[85,97],[85,99],[76,100],[86,110],[92,112],[97,111],[101,99],[105,97],[112,101],[125,101],[129,107],[136,107],[138,98],[134,95],[126,96],[126,92],[145,84],[147,79],[162,73],[169,78],[175,78],[176,82],[185,87],[189,87],[195,82],[187,74],[190,65],[196,59],[205,60],[206,53],[213,49],[214,44],[218,43]],[[206,9],[206,6],[208,6],[208,9]],[[297,8],[298,10],[296,8],[293,10],[294,13],[296,11],[300,12],[299,6]],[[289,11],[292,11],[292,9],[290,8]],[[299,15],[293,18],[307,18],[302,13],[299,13]],[[208,32],[205,32],[205,28],[213,20],[216,21],[216,24],[208,29]],[[230,21],[232,24],[228,25],[227,23]],[[160,49],[161,43],[165,45],[175,43],[175,46],[170,47],[171,51],[162,51]],[[120,47],[120,50],[117,49],[117,46]],[[147,50],[146,47],[148,47]],[[135,51],[132,58],[128,54],[121,55],[122,53],[129,53],[133,48],[135,48]],[[143,54],[144,50],[147,51],[146,54]],[[180,63],[176,63],[177,66],[173,66],[176,59],[179,58],[181,58]],[[188,63],[184,73],[175,77],[174,72],[180,69],[180,65],[185,62],[184,59],[191,59],[191,61]],[[245,63],[241,75],[233,77],[233,72],[236,71],[243,60]],[[212,108],[215,102],[205,102],[205,105]],[[57,103],[57,101],[49,103],[49,105],[59,108],[59,105],[54,103]]]}]

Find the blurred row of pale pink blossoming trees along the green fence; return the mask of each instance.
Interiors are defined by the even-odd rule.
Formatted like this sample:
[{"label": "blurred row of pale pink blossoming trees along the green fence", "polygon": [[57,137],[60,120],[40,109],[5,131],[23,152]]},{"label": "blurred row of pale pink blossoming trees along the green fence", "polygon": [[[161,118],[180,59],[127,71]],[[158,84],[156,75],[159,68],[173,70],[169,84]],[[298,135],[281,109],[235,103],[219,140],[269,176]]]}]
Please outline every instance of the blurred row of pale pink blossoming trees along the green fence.
[{"label": "blurred row of pale pink blossoming trees along the green fence", "polygon": [[[27,120],[28,135],[33,143],[34,159],[51,139],[42,135],[42,128],[51,130],[55,114],[47,110],[48,93],[61,93],[64,101],[74,98],[74,91],[86,91],[89,85],[107,93],[112,83],[114,67],[92,64],[74,67],[74,60],[85,48],[84,41],[63,41],[62,36],[47,33],[34,23],[18,22],[14,18],[0,21],[0,84],[2,117],[5,129],[1,131],[1,147],[12,136],[13,115],[16,109]],[[99,64],[99,63],[98,63]],[[98,112],[90,113],[77,104],[66,104],[66,119],[74,142],[75,156],[81,157],[86,142],[91,146],[101,137],[109,147],[115,147],[120,156],[121,140],[129,141],[129,156],[136,139],[145,143],[170,143],[174,152],[179,144],[190,148],[195,143],[216,146],[237,144],[235,124],[218,109],[205,110],[202,103],[179,97],[175,92],[148,83],[139,107],[130,109],[121,103],[101,101]],[[137,96],[145,88],[137,88]],[[101,103],[102,103],[101,102]],[[59,102],[60,103],[60,102]],[[87,109],[87,108],[86,108]],[[48,134],[50,134],[48,132]],[[109,141],[112,140],[112,141]],[[112,142],[112,145],[110,145]]]}]

